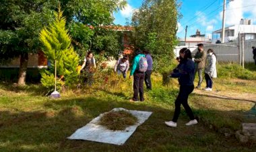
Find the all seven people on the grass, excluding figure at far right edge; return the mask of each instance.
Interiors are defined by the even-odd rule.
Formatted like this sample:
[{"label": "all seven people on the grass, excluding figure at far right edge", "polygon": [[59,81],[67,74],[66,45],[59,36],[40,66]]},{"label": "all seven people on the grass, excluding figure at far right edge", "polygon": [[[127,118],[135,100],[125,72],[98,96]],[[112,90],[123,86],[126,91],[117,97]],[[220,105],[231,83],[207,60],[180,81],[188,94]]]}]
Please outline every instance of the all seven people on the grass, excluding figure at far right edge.
[{"label": "all seven people on the grass, excluding figure at far right edge", "polygon": [[[190,121],[186,124],[187,126],[197,124],[197,120],[193,115],[193,112],[188,104],[189,94],[194,89],[194,79],[195,73],[198,73],[199,81],[196,88],[201,88],[201,83],[203,81],[202,73],[203,69],[205,73],[206,87],[205,91],[212,91],[212,79],[217,77],[216,71],[216,54],[211,48],[206,52],[203,50],[203,44],[197,45],[197,52],[195,57],[192,58],[191,50],[189,48],[182,48],[179,51],[179,65],[170,73],[170,77],[177,77],[179,79],[179,95],[175,100],[175,110],[174,116],[171,121],[165,122],[167,126],[176,127],[179,114],[181,113],[181,104],[185,108]],[[256,55],[256,54],[255,54]],[[254,57],[255,58],[255,57]],[[92,52],[88,52],[86,58],[84,59],[84,64],[81,67],[81,71],[84,69],[86,71],[86,81],[89,85],[92,85],[92,77],[94,75],[94,70],[96,68],[96,61],[93,57]],[[133,98],[130,102],[143,102],[143,83],[145,81],[147,89],[152,89],[151,74],[152,74],[153,60],[150,52],[148,50],[143,50],[143,52],[136,50],[135,58],[131,65],[131,73],[129,77],[133,76]],[[115,64],[115,72],[118,75],[123,75],[124,78],[127,77],[127,71],[129,69],[129,59],[127,56],[119,59]]]}]

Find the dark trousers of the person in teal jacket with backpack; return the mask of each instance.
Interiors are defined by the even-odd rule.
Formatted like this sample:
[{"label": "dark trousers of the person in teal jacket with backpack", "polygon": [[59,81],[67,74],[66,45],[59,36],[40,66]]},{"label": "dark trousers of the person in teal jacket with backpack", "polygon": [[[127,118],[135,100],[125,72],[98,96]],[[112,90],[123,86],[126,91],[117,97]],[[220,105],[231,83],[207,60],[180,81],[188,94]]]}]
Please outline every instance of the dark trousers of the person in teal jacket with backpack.
[{"label": "dark trousers of the person in teal jacket with backpack", "polygon": [[[141,72],[135,71],[133,75],[133,100],[138,101],[144,101],[143,96],[143,83],[144,83],[144,77],[145,74]],[[139,99],[138,99],[138,93],[139,93]]]}]

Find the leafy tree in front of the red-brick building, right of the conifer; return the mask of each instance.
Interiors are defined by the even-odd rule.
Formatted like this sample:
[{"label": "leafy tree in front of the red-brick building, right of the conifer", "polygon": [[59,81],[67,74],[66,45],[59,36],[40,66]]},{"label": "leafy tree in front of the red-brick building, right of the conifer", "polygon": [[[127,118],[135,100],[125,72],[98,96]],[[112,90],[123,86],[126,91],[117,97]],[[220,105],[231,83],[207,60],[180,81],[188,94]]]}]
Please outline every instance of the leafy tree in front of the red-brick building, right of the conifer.
[{"label": "leafy tree in front of the red-brick building, right of the conifer", "polygon": [[94,54],[117,56],[122,50],[119,43],[120,32],[108,30],[113,25],[113,12],[122,9],[126,0],[81,0],[61,1],[64,15],[72,36],[72,44],[79,56],[84,58],[88,50]]}]

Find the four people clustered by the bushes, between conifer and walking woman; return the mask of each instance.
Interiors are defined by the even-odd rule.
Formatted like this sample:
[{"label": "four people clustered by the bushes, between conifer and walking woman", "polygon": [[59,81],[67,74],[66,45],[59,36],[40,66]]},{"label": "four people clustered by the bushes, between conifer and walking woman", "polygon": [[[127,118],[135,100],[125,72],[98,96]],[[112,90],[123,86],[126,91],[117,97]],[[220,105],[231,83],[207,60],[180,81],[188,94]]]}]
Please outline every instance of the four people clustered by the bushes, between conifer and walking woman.
[{"label": "four people clustered by the bushes, between conifer and walking woman", "polygon": [[[153,59],[148,50],[136,50],[136,56],[133,59],[133,64],[131,66],[130,78],[133,76],[133,98],[130,102],[143,102],[143,82],[145,81],[147,89],[152,89],[151,83],[151,74],[153,69]],[[146,69],[145,71],[141,71],[141,58],[145,60]],[[84,74],[84,83],[86,85],[92,85],[93,76],[96,69],[96,61],[91,51],[88,52],[84,59],[84,63],[80,69]],[[129,58],[128,56],[123,56],[123,58],[119,59],[115,64],[114,71],[118,75],[123,75],[123,78],[127,77],[127,71],[129,70]],[[139,94],[139,98],[138,98]]]}]

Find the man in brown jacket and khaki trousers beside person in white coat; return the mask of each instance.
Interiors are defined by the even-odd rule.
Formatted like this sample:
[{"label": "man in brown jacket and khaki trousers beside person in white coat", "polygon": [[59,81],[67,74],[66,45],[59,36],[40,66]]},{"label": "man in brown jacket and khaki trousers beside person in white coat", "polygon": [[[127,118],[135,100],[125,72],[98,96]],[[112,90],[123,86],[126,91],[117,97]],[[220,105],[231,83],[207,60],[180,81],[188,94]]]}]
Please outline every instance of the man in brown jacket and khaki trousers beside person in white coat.
[{"label": "man in brown jacket and khaki trousers beside person in white coat", "polygon": [[206,53],[203,51],[203,44],[197,44],[198,50],[195,53],[195,73],[198,72],[198,85],[197,89],[201,88],[201,82],[203,81],[202,73],[203,73],[203,68],[205,68],[205,59],[206,59]]}]

